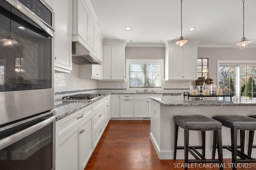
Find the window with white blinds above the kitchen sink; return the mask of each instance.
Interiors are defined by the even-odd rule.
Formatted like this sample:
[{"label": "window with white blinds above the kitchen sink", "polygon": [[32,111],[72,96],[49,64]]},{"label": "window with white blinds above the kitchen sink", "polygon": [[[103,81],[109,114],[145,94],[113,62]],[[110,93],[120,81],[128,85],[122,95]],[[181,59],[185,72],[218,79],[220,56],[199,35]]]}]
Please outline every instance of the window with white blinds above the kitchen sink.
[{"label": "window with white blinds above the kitchen sink", "polygon": [[[128,88],[162,88],[163,60],[127,60]],[[148,86],[149,85],[149,86]]]}]

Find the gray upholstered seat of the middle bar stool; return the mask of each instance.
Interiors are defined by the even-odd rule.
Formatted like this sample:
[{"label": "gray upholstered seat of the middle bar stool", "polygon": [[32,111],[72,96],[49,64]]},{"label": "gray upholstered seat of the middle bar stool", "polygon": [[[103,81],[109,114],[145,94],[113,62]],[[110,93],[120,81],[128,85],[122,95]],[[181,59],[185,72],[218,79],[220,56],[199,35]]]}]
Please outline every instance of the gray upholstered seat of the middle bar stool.
[{"label": "gray upholstered seat of the middle bar stool", "polygon": [[[255,116],[256,117],[256,116]],[[238,130],[256,130],[256,120],[242,115],[214,116],[223,126]]]}]

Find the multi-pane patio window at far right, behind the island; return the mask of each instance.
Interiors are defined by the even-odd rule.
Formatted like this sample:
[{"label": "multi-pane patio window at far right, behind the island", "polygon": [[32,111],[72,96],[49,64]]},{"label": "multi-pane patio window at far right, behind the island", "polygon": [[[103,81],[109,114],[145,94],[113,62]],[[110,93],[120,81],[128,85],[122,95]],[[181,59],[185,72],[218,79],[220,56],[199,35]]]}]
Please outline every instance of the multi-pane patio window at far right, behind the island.
[{"label": "multi-pane patio window at far right, behind the island", "polygon": [[218,61],[218,70],[219,88],[256,102],[256,61]]}]

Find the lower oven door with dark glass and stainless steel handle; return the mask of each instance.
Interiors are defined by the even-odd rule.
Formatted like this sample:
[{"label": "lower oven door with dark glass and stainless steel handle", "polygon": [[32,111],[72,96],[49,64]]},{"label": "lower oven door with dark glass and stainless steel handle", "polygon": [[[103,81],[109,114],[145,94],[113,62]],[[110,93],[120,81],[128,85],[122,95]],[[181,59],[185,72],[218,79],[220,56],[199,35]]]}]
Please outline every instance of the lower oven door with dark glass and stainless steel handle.
[{"label": "lower oven door with dark glass and stainless steel handle", "polygon": [[0,129],[1,170],[55,169],[55,112]]}]

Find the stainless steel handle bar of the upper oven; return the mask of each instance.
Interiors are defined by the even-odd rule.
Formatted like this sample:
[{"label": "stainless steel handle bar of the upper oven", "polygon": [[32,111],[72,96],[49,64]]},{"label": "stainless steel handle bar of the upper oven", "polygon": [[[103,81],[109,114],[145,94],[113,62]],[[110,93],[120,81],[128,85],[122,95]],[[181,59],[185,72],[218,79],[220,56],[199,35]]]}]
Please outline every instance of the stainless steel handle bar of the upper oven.
[{"label": "stainless steel handle bar of the upper oven", "polygon": [[51,37],[54,37],[54,31],[46,26],[33,12],[30,12],[28,8],[26,8],[22,3],[17,0],[4,0],[11,6],[13,6],[16,10],[22,13],[24,16],[28,17],[31,21],[33,21],[38,27],[48,33]]}]

